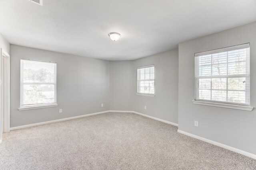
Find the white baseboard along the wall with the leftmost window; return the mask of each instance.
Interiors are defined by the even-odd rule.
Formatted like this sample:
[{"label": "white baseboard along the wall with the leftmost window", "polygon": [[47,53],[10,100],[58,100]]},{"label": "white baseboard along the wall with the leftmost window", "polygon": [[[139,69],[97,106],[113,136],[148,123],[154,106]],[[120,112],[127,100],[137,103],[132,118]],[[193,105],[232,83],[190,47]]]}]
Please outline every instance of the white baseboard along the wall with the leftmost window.
[{"label": "white baseboard along the wall with the leftmost window", "polygon": [[33,124],[29,124],[29,125],[16,126],[16,127],[11,127],[10,130],[12,131],[12,130],[16,130],[16,129],[23,129],[23,128],[26,128],[26,127],[32,127],[32,126],[44,125],[44,124],[48,124],[48,123],[55,123],[55,122],[59,122],[59,121],[66,121],[66,120],[71,120],[71,119],[77,119],[77,118],[81,118],[81,117],[98,115],[98,114],[108,113],[108,112],[109,111],[101,111],[101,112],[91,113],[91,114],[87,114],[87,115],[67,117],[67,118],[64,118],[64,119],[56,119],[56,120],[44,121],[44,122],[40,122],[40,123],[33,123]]}]

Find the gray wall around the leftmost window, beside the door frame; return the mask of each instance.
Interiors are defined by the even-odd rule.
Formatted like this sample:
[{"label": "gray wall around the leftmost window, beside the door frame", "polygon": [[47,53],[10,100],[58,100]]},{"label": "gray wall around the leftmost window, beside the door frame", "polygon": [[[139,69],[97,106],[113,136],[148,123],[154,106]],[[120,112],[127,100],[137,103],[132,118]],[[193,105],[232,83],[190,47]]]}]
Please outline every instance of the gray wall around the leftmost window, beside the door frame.
[{"label": "gray wall around the leftmost window, beside the door frame", "polygon": [[[17,45],[10,55],[10,127],[109,110],[109,61]],[[21,58],[57,63],[57,107],[18,111]]]}]

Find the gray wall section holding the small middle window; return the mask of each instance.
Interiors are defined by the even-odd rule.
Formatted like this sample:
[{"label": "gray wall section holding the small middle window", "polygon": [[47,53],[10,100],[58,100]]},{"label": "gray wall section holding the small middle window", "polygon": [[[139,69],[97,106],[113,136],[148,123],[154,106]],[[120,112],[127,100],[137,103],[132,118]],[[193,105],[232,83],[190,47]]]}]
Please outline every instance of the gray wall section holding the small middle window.
[{"label": "gray wall section holding the small middle window", "polygon": [[[155,65],[156,96],[137,96],[137,67],[150,64]],[[178,49],[134,60],[133,70],[133,110],[178,123]]]}]

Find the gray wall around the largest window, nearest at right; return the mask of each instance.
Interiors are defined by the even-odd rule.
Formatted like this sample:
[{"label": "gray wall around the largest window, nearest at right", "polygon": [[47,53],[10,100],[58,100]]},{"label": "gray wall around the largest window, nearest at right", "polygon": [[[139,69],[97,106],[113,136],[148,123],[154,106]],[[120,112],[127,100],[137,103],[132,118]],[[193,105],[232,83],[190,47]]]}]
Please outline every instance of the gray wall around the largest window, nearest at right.
[{"label": "gray wall around the largest window, nearest at right", "polygon": [[[194,53],[250,43],[250,102],[256,107],[256,22],[179,44],[179,130],[256,154],[256,110],[203,106],[194,100]],[[199,121],[199,127],[194,126]]]}]

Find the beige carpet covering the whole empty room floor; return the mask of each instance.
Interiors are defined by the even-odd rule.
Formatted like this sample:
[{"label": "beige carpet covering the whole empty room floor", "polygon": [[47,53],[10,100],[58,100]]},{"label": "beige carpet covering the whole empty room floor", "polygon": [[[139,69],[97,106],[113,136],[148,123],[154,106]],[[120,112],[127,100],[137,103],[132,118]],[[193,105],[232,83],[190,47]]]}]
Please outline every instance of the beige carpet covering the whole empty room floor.
[{"label": "beige carpet covering the whole empty room floor", "polygon": [[134,113],[105,113],[4,133],[0,169],[256,169],[256,160]]}]

